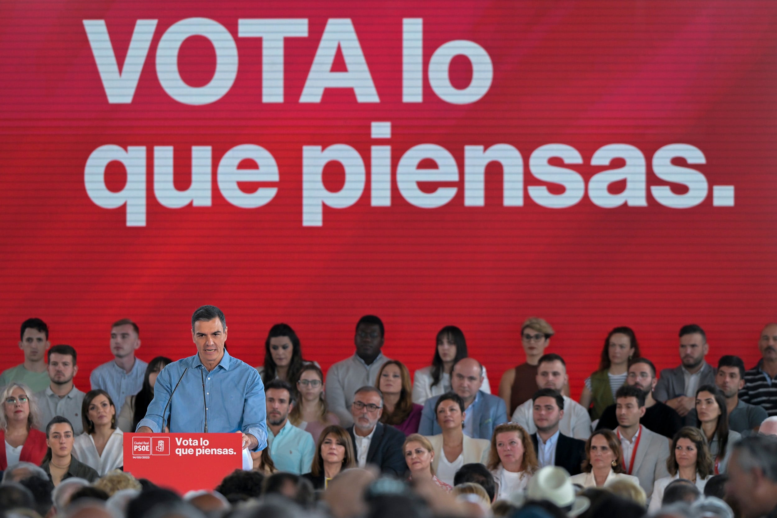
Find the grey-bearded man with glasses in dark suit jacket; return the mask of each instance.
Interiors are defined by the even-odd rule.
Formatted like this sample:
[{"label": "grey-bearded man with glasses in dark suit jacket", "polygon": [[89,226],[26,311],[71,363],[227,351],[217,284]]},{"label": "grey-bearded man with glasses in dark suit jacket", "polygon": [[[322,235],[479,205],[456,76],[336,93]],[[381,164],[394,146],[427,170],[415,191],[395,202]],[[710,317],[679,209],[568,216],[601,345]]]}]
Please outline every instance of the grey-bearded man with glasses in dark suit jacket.
[{"label": "grey-bearded man with glasses in dark suit jacket", "polygon": [[[405,434],[393,426],[378,422],[383,413],[383,395],[375,387],[365,385],[354,394],[350,407],[354,424],[348,427],[354,442],[359,468],[375,464],[382,473],[402,477],[407,471],[402,444]],[[366,451],[365,451],[366,450]]]}]

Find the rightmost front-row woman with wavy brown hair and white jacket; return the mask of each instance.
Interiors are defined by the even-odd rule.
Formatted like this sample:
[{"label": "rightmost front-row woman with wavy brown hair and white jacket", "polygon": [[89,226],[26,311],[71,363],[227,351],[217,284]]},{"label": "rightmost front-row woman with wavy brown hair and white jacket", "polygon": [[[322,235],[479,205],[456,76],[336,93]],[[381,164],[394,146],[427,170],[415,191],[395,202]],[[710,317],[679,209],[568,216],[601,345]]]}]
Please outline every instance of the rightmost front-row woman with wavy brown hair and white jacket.
[{"label": "rightmost front-row woman with wavy brown hair and white jacket", "polygon": [[691,481],[704,490],[713,470],[713,457],[709,454],[707,440],[701,430],[693,426],[685,426],[672,438],[670,455],[667,459],[669,476],[659,478],[653,485],[653,495],[650,498],[648,510],[653,513],[660,509],[664,501],[664,490],[671,481],[678,478]]}]

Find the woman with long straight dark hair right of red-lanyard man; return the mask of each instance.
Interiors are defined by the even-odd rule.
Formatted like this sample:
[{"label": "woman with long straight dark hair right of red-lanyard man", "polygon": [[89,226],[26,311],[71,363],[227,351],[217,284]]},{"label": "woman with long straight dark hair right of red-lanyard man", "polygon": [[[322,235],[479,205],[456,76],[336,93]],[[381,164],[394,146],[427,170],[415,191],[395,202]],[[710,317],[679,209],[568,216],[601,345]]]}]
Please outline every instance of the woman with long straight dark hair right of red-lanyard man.
[{"label": "woman with long straight dark hair right of red-lanyard man", "polygon": [[702,429],[713,456],[713,474],[726,472],[731,445],[740,440],[740,434],[729,429],[726,398],[714,385],[702,385],[696,391],[696,426]]}]

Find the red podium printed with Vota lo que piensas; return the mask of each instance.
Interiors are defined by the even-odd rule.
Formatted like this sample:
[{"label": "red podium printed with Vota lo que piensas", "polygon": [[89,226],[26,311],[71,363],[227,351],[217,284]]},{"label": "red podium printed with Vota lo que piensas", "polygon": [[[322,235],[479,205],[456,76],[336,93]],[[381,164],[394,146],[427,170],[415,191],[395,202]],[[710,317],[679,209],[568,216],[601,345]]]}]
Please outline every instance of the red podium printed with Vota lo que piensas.
[{"label": "red podium printed with Vota lo que piensas", "polygon": [[239,433],[125,433],[124,471],[181,495],[242,468]]}]

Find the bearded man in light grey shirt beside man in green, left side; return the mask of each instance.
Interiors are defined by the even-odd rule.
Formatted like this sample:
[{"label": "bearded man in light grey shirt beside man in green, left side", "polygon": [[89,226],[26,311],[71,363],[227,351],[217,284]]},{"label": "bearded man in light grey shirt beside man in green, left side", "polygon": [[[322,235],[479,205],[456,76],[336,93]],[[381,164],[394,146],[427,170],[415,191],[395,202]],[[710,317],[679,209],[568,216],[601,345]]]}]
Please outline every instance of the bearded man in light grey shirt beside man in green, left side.
[{"label": "bearded man in light grey shirt beside man in green, left side", "polygon": [[84,393],[73,384],[73,377],[78,373],[75,358],[75,349],[71,346],[54,346],[48,350],[47,372],[51,383],[35,395],[40,407],[41,432],[46,430],[54,415],[61,415],[72,423],[74,436],[84,431],[81,422]]}]

